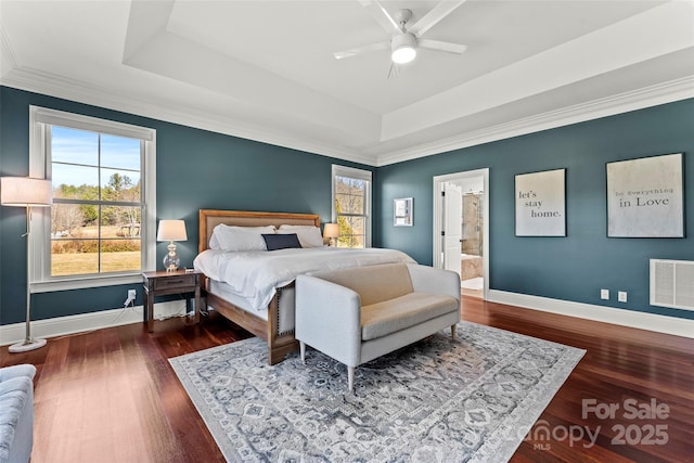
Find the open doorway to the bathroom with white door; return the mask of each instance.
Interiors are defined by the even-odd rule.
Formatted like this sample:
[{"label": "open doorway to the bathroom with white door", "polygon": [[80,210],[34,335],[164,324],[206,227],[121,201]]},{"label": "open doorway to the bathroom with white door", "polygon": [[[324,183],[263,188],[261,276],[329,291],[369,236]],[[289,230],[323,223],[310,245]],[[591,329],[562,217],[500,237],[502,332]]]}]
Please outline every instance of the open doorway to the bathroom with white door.
[{"label": "open doorway to the bathroom with white door", "polygon": [[434,267],[461,275],[461,293],[489,291],[489,169],[434,178]]}]

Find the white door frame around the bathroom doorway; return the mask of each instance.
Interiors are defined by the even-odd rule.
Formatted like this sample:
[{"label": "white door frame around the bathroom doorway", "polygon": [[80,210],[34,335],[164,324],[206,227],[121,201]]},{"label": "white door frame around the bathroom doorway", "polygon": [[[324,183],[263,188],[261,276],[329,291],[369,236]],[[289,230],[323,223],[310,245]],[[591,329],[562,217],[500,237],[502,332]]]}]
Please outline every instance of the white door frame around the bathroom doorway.
[{"label": "white door frame around the bathroom doorway", "polygon": [[444,252],[444,240],[441,240],[441,230],[444,227],[444,201],[441,198],[442,185],[446,182],[473,179],[473,178],[483,178],[485,201],[483,203],[483,214],[484,214],[484,222],[483,222],[483,266],[484,266],[484,299],[487,300],[487,295],[489,294],[489,168],[476,169],[476,170],[465,170],[461,172],[447,173],[444,176],[434,177],[434,254],[433,254],[433,262],[434,268],[441,269],[444,268],[444,261],[441,259],[441,254]]}]

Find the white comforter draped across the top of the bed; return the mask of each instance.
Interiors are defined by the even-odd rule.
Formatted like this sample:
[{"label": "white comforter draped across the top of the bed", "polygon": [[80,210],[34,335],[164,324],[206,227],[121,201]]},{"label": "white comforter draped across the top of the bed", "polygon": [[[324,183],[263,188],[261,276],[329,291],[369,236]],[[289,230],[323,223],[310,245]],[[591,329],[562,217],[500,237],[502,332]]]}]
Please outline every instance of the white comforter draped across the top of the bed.
[{"label": "white comforter draped across the top of the bed", "polygon": [[227,284],[227,290],[243,297],[255,310],[265,310],[278,287],[301,273],[388,262],[412,262],[396,249],[345,249],[337,247],[292,248],[280,250],[222,252],[207,249],[193,260],[196,270]]}]

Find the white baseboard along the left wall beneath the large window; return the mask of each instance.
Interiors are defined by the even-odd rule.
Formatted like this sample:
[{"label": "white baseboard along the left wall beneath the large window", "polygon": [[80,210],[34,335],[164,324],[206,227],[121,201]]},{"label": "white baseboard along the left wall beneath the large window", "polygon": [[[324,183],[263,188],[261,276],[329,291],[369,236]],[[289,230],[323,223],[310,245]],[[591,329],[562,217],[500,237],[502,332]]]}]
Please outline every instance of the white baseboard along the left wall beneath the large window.
[{"label": "white baseboard along the left wall beneath the large window", "polygon": [[[183,314],[184,300],[170,300],[154,305],[154,319],[165,319]],[[67,334],[83,333],[104,327],[120,326],[130,323],[142,323],[142,306],[127,309],[102,310],[77,316],[57,317],[31,322],[31,336],[50,338]],[[13,323],[0,326],[0,346],[18,343],[26,336],[26,323]]]}]

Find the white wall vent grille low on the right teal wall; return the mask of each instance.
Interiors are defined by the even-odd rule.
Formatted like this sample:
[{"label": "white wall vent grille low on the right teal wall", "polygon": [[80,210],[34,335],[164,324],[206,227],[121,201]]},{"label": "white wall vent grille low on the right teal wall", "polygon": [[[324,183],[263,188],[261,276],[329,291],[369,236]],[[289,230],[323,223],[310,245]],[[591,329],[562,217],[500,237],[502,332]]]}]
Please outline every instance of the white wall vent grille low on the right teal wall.
[{"label": "white wall vent grille low on the right teal wall", "polygon": [[651,305],[694,310],[694,261],[651,259]]}]

